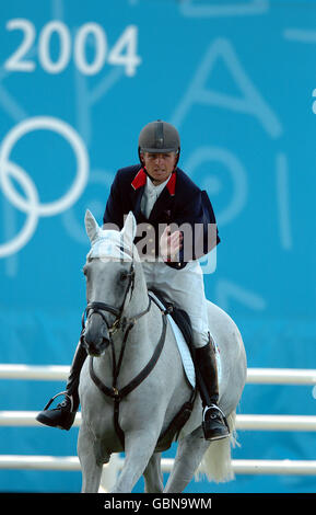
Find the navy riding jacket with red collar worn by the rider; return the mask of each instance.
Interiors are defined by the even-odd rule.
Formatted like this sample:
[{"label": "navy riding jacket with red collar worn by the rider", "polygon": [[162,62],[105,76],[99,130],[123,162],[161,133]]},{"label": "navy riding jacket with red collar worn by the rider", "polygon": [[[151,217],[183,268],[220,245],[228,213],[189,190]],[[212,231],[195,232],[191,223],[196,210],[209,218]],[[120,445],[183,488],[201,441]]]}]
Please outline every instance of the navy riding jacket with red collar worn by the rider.
[{"label": "navy riding jacket with red collar worn by the rider", "polygon": [[[176,261],[166,264],[180,270],[190,260],[210,252],[219,242],[215,216],[206,191],[201,191],[179,168],[172,173],[156,199],[149,218],[141,211],[141,198],[147,172],[141,164],[118,170],[110,187],[103,222],[106,228],[114,224],[122,228],[125,216],[132,211],[138,232],[134,243],[140,255],[160,255],[160,237],[166,227],[180,230],[183,249]],[[178,227],[173,226],[176,224]]]}]

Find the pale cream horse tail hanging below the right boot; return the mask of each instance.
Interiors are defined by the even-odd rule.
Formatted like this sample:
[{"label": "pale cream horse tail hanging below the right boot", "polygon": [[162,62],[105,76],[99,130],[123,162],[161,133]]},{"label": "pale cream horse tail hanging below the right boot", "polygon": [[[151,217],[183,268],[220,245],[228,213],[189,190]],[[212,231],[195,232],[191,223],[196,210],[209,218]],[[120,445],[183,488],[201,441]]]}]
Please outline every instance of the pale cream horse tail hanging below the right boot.
[{"label": "pale cream horse tail hanging below the right boot", "polygon": [[214,440],[210,444],[196,472],[196,481],[202,479],[201,474],[207,474],[209,481],[216,483],[231,481],[235,478],[231,458],[231,447],[238,445],[236,440],[235,419],[235,411],[227,416],[231,436]]}]

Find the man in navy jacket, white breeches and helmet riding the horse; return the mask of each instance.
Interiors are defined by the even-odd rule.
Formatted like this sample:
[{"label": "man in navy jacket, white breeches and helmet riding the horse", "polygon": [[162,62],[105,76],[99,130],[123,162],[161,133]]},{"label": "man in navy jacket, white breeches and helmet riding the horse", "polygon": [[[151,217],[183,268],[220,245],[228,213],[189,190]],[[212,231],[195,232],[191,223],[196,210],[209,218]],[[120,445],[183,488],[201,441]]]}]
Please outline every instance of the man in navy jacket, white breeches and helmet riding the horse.
[{"label": "man in navy jacket, white breeches and helmet riding the horse", "polygon": [[[137,165],[121,169],[113,182],[104,214],[104,228],[119,228],[130,210],[137,224],[147,224],[153,238],[147,239],[143,270],[149,287],[163,291],[167,300],[190,317],[198,387],[203,405],[202,428],[208,440],[229,436],[224,414],[218,407],[219,384],[214,342],[209,332],[207,299],[198,258],[220,242],[218,230],[210,237],[209,226],[215,217],[209,197],[178,167],[180,140],[177,129],[162,121],[151,122],[139,136]],[[173,224],[177,229],[172,230]],[[195,252],[186,259],[186,236],[183,224],[192,228]],[[165,230],[159,232],[161,225]],[[108,226],[108,227],[110,227]],[[199,230],[200,229],[200,230]],[[157,238],[157,234],[159,238]],[[140,237],[134,243],[141,242]],[[152,242],[152,243],[151,243]],[[191,244],[191,243],[189,243]],[[192,250],[192,249],[191,249]],[[150,258],[149,258],[150,256]],[[155,259],[162,256],[162,259]],[[189,293],[189,295],[188,295]],[[69,430],[79,408],[79,377],[86,351],[78,344],[70,369],[63,401],[55,409],[37,415],[45,425]],[[60,393],[58,393],[59,396]],[[55,397],[58,397],[55,396]]]}]

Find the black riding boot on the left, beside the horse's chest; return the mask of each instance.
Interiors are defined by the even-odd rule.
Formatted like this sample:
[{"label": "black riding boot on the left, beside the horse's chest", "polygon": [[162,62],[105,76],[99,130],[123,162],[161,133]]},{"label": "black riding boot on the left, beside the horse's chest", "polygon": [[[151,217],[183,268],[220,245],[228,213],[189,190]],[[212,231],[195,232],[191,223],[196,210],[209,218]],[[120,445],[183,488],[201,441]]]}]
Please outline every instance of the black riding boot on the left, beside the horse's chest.
[{"label": "black riding boot on the left, beside the horse's chest", "polygon": [[[66,391],[57,393],[52,397],[43,411],[38,413],[36,420],[42,424],[49,425],[50,427],[59,427],[60,430],[70,430],[74,422],[75,413],[79,408],[79,378],[83,363],[86,358],[86,351],[81,344],[81,340],[77,346],[73,360],[68,376]],[[56,408],[48,410],[56,397],[63,394],[63,401]]]}]

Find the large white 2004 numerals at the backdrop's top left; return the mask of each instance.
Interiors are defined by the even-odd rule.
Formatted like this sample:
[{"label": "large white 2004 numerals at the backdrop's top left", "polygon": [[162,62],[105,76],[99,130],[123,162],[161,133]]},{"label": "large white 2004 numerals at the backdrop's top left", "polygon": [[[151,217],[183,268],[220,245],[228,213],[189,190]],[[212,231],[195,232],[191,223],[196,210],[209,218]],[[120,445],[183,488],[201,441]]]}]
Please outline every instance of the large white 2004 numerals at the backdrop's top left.
[{"label": "large white 2004 numerals at the backdrop's top left", "polygon": [[[23,39],[20,46],[5,60],[3,67],[10,71],[32,72],[36,68],[34,60],[26,59],[26,54],[33,49],[36,38],[34,24],[24,18],[9,20],[5,25],[8,31],[20,30]],[[50,56],[51,37],[56,34],[59,41],[59,55],[52,61]],[[85,50],[87,41],[94,41],[95,55],[92,62],[87,62]],[[137,67],[141,64],[141,58],[137,54],[138,49],[138,26],[128,25],[107,55],[107,35],[103,26],[98,23],[90,22],[79,27],[73,42],[73,61],[78,70],[87,76],[98,73],[105,62],[114,66],[121,66],[128,77],[136,75]],[[71,59],[71,32],[61,21],[48,22],[38,36],[38,60],[42,68],[47,73],[61,73]]]}]

